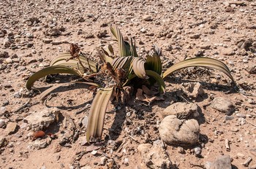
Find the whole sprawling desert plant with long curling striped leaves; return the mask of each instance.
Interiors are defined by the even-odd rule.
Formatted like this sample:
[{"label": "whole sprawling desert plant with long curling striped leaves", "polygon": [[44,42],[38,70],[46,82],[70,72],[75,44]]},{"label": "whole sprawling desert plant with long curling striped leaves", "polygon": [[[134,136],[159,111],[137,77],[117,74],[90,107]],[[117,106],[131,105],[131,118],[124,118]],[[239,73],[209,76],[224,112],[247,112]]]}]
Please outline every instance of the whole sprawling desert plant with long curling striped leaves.
[{"label": "whole sprawling desert plant with long curling striped leaves", "polygon": [[[89,122],[86,130],[88,142],[91,138],[101,138],[108,102],[113,98],[116,98],[116,100],[121,98],[119,101],[125,102],[125,98],[131,93],[131,88],[129,87],[135,84],[135,79],[141,79],[139,83],[136,81],[137,86],[140,88],[143,85],[151,87],[157,83],[159,93],[165,93],[164,78],[166,76],[181,68],[203,66],[222,71],[234,82],[233,76],[225,63],[212,58],[190,58],[176,63],[167,68],[165,72],[162,72],[162,61],[160,59],[162,52],[159,47],[155,46],[153,53],[146,57],[141,57],[136,51],[135,39],[131,38],[130,44],[124,41],[116,25],[110,25],[110,31],[118,42],[118,55],[115,55],[111,45],[98,49],[102,66],[97,66],[97,63],[94,63],[83,52],[80,52],[78,46],[72,44],[70,53],[65,53],[53,59],[48,68],[43,68],[30,76],[26,83],[26,87],[30,90],[34,82],[41,77],[48,74],[63,73],[80,76],[85,79],[86,82],[84,83],[99,87],[89,112]],[[92,76],[97,77],[100,74],[112,78],[112,84],[101,87],[90,79]],[[43,95],[47,95],[60,85],[50,88]]]}]

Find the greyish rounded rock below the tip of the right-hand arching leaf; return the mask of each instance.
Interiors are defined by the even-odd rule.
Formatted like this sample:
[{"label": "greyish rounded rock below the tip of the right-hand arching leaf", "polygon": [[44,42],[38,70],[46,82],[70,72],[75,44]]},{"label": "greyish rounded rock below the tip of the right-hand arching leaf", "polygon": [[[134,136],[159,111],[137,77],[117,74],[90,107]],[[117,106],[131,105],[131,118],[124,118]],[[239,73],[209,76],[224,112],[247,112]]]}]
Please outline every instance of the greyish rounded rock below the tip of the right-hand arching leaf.
[{"label": "greyish rounded rock below the tip of the right-hand arching leaf", "polygon": [[224,112],[227,115],[230,115],[235,111],[234,104],[229,99],[222,97],[214,98],[214,100],[211,101],[211,107]]}]

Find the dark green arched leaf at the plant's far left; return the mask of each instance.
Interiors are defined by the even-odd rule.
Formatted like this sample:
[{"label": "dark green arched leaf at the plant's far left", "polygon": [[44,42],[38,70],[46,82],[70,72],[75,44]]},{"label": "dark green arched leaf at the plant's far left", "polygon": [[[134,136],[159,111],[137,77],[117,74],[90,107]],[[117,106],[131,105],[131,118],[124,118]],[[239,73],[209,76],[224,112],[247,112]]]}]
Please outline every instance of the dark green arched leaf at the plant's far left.
[{"label": "dark green arched leaf at the plant's far left", "polygon": [[31,90],[31,87],[33,86],[34,82],[49,74],[74,74],[76,76],[80,76],[80,74],[78,74],[77,71],[67,66],[49,66],[32,74],[32,76],[30,76],[28,81],[26,82],[26,88],[28,90]]}]

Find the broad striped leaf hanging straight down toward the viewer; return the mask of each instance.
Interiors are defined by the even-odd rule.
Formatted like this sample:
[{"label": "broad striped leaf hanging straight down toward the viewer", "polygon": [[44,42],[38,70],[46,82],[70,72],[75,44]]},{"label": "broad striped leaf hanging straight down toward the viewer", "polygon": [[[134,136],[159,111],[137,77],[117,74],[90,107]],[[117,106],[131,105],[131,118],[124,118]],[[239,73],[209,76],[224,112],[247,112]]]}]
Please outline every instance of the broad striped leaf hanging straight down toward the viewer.
[{"label": "broad striped leaf hanging straight down toward the viewer", "polygon": [[94,101],[91,104],[89,112],[88,125],[86,130],[86,140],[90,141],[90,138],[100,138],[102,136],[102,130],[105,120],[105,112],[113,93],[113,87],[100,88],[97,92]]}]

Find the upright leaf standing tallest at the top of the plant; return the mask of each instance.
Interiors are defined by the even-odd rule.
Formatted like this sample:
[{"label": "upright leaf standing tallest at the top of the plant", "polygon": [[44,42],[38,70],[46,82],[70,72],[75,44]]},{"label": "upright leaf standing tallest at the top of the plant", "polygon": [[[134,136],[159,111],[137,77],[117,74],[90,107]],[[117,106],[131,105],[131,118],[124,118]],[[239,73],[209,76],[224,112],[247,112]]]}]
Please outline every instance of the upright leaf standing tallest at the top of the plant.
[{"label": "upright leaf standing tallest at the top of the plant", "polygon": [[113,36],[116,37],[116,39],[118,41],[119,56],[123,57],[123,56],[132,55],[129,43],[124,41],[121,31],[117,28],[117,26],[110,25],[110,31],[113,34]]}]

